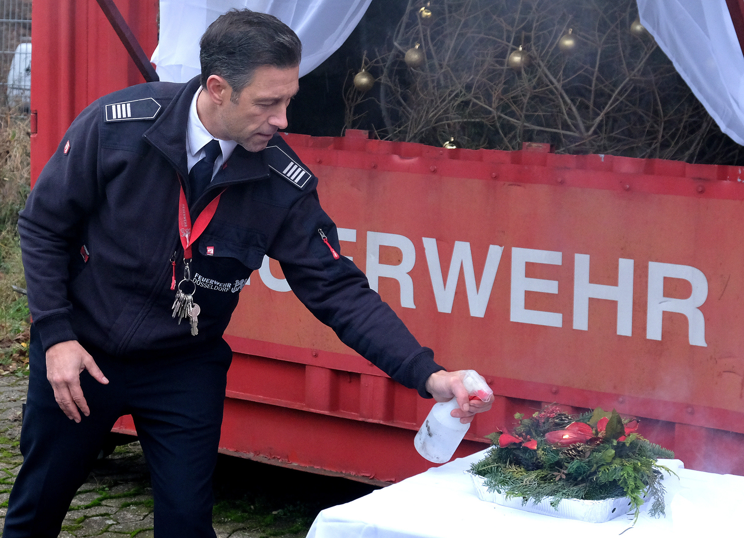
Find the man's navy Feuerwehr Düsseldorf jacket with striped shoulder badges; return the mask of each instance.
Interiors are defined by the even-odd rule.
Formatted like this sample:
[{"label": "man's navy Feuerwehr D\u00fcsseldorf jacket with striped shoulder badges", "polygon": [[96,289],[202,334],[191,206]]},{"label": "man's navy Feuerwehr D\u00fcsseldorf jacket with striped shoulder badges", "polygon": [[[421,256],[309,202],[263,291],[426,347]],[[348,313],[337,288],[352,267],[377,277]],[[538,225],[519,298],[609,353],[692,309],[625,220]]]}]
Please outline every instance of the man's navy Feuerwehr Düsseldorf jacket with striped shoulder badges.
[{"label": "man's navy Feuerwehr D\u00fcsseldorf jacket with striped shoulder badges", "polygon": [[[336,225],[318,203],[318,180],[279,135],[261,152],[237,146],[201,197],[190,199],[181,178],[188,178],[186,123],[198,87],[198,77],[146,83],[98,99],[73,121],[39,175],[19,232],[44,348],[78,340],[126,357],[209,345],[222,336],[238,291],[266,254],[344,344],[429,396],[426,379],[442,367],[364,273],[345,256],[334,258],[318,232],[340,252]],[[195,337],[187,320],[179,325],[171,317],[171,260],[176,280],[183,274],[179,181],[192,221],[227,189],[193,247],[193,300],[201,308]]]}]

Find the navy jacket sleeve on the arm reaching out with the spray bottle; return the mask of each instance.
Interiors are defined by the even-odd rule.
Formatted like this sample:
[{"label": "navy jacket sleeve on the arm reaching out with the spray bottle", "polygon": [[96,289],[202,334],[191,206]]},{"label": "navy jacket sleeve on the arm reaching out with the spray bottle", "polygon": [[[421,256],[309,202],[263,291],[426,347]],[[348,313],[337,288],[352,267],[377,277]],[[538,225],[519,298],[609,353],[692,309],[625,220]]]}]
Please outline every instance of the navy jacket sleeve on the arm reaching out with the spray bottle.
[{"label": "navy jacket sleeve on the arm reaching out with the spray bottle", "polygon": [[267,254],[278,259],[298,299],[344,344],[400,384],[431,398],[426,380],[444,370],[434,362],[432,349],[416,341],[350,259],[333,257],[318,229],[340,252],[336,225],[312,192],[292,207]]}]

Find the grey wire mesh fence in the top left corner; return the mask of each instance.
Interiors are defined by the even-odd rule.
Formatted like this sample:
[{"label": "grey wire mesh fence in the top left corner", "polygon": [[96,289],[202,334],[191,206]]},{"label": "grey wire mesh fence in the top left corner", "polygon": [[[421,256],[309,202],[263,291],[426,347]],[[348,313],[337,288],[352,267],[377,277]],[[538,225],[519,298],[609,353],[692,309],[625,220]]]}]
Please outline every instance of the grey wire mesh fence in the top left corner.
[{"label": "grey wire mesh fence in the top left corner", "polygon": [[0,0],[0,107],[28,112],[31,0]]}]

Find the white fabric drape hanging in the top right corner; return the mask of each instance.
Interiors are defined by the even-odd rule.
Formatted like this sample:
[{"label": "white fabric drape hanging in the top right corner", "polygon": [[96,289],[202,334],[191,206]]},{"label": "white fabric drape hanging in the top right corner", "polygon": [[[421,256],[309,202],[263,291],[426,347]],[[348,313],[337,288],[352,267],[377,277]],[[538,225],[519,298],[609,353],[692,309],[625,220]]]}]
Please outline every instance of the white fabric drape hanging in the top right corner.
[{"label": "white fabric drape hanging in the top right corner", "polygon": [[744,56],[725,0],[638,0],[641,24],[721,130],[744,144]]}]

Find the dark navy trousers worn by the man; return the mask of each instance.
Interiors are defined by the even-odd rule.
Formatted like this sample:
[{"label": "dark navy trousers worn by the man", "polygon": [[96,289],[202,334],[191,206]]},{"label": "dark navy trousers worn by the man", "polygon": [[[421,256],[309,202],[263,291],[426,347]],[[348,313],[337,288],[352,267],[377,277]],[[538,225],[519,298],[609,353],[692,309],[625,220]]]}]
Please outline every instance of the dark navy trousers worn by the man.
[{"label": "dark navy trousers worn by the man", "polygon": [[[83,346],[85,346],[83,344]],[[150,467],[155,537],[214,538],[212,474],[217,463],[232,352],[220,339],[185,353],[114,358],[85,346],[109,384],[80,374],[90,416],[74,423],[54,401],[46,358],[31,330],[23,465],[13,485],[4,538],[56,538],[116,420],[132,414]]]}]

